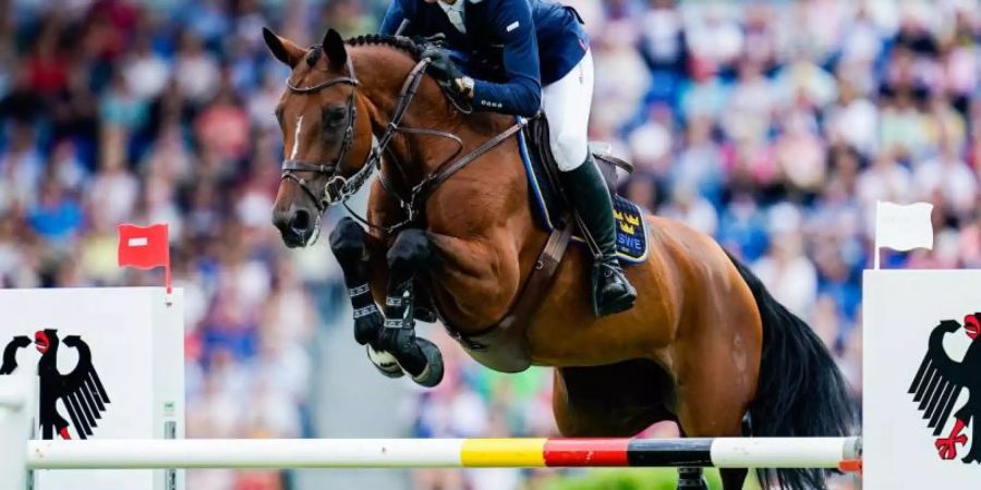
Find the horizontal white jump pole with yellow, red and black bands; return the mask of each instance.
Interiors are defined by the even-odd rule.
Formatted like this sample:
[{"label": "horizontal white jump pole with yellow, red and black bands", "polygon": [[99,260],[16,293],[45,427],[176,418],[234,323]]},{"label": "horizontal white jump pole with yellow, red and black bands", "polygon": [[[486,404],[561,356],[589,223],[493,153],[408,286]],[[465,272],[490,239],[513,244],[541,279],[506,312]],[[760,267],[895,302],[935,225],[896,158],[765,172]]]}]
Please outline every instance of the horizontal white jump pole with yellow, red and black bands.
[{"label": "horizontal white jump pole with yellow, red and black bands", "polygon": [[29,469],[838,468],[860,438],[118,439],[28,441]]}]

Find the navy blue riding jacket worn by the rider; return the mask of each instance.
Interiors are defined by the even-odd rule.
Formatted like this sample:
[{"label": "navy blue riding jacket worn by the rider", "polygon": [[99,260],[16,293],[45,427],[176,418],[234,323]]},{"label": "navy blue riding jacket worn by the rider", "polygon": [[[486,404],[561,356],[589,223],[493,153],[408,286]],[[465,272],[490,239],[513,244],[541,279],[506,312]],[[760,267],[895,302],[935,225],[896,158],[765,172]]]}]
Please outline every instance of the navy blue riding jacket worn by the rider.
[{"label": "navy blue riding jacket worn by the rider", "polygon": [[392,0],[382,34],[395,34],[402,20],[405,36],[446,35],[460,69],[472,76],[474,107],[534,115],[542,86],[569,73],[585,53],[589,38],[572,8],[546,0],[457,0],[467,2],[467,34],[450,23],[436,3]]}]

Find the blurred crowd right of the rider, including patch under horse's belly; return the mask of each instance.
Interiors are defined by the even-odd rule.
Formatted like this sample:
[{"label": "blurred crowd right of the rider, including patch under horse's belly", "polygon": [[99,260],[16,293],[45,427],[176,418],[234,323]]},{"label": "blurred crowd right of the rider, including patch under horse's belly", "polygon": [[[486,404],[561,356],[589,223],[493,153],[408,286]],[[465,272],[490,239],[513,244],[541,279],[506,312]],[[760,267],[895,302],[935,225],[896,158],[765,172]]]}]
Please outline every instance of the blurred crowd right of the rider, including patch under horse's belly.
[{"label": "blurred crowd right of the rider, including patch under horse's belly", "polygon": [[[621,192],[751,264],[833,350],[859,409],[861,272],[872,267],[876,200],[934,205],[933,250],[883,252],[883,267],[981,267],[981,5],[567,3],[592,37],[591,137],[637,166]],[[419,436],[555,430],[549,370],[505,378],[459,366],[421,395]],[[424,471],[419,481],[521,488],[518,470],[494,475]]]}]

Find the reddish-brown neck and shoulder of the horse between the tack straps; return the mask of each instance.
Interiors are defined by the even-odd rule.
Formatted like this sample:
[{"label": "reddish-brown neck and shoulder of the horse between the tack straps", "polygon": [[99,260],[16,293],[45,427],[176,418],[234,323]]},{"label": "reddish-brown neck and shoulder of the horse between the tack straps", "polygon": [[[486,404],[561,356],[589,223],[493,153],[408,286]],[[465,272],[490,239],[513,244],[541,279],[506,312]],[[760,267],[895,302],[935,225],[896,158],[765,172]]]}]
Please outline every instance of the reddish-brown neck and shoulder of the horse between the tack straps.
[{"label": "reddish-brown neck and shoulder of the horse between the tack straps", "polygon": [[[382,136],[415,62],[403,53],[379,48],[359,51],[355,64],[364,98],[368,99],[373,130]],[[457,155],[460,158],[511,124],[513,120],[504,115],[460,113],[427,77],[399,125],[456,135],[463,142]],[[450,160],[458,145],[449,138],[402,134],[392,139],[390,149],[397,161],[387,161],[383,172],[392,177],[391,184],[405,198],[405,191]],[[404,172],[392,169],[393,164]],[[407,175],[404,181],[400,173]],[[474,160],[439,185],[426,204],[431,245],[445,258],[434,270],[438,280],[432,284],[445,318],[451,324],[474,327],[497,321],[547,238],[532,220],[517,139],[511,137]],[[372,194],[370,213],[382,223],[393,224],[399,212],[388,193]],[[392,218],[396,221],[387,221]]]}]

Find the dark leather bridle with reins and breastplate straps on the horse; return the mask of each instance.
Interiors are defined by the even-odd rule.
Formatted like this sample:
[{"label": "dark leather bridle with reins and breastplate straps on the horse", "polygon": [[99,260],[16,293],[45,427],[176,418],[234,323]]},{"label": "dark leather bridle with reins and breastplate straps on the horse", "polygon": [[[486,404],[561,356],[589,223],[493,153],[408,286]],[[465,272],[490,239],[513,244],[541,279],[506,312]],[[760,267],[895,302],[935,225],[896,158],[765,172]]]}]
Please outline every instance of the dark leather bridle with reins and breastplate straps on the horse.
[{"label": "dark leather bridle with reins and breastplate straps on the horse", "polygon": [[[322,48],[319,46],[315,46],[313,47],[313,49]],[[317,211],[319,212],[323,212],[330,206],[341,204],[354,219],[370,228],[380,230],[386,234],[397,233],[404,228],[415,224],[422,216],[423,204],[436,187],[449,180],[450,176],[460,171],[462,168],[467,167],[467,164],[475,160],[477,157],[484,155],[492,148],[502,143],[505,139],[518,133],[526,124],[525,120],[519,119],[517,123],[505,130],[502,133],[488,139],[480,147],[473,149],[472,151],[460,158],[457,157],[459,157],[459,155],[463,151],[465,145],[459,136],[439,130],[401,126],[400,124],[402,118],[405,115],[409,106],[412,103],[412,99],[419,91],[419,86],[422,84],[422,81],[426,73],[426,66],[428,66],[428,59],[422,59],[415,64],[412,71],[409,72],[409,75],[407,75],[405,81],[402,83],[402,88],[399,91],[398,101],[396,102],[395,110],[391,113],[391,118],[389,119],[385,132],[377,138],[377,140],[374,140],[372,143],[372,149],[365,157],[364,164],[361,167],[361,169],[359,169],[353,175],[350,175],[348,177],[341,174],[340,167],[344,162],[348,150],[350,149],[354,139],[354,127],[358,117],[355,96],[358,93],[358,86],[360,85],[360,83],[358,82],[358,77],[354,74],[354,64],[351,61],[351,57],[349,56],[347,59],[348,76],[330,78],[328,81],[308,87],[295,86],[289,81],[289,78],[287,78],[287,88],[293,94],[315,94],[328,87],[341,84],[350,85],[351,94],[348,96],[347,106],[349,123],[348,127],[344,130],[343,140],[341,142],[341,149],[340,152],[338,152],[337,158],[326,163],[310,163],[295,159],[283,160],[282,174],[280,176],[280,180],[291,180],[296,183],[300,188],[302,188],[303,192],[306,193],[306,195],[310,196],[311,199],[313,199],[314,204],[317,207]],[[444,89],[444,93],[447,93],[446,87],[441,88]],[[464,113],[470,112],[469,109],[461,106],[460,101],[457,100],[452,96],[452,94],[447,94],[447,97],[449,97],[450,101],[453,103],[453,106],[457,107],[458,110]],[[387,226],[371,223],[367,219],[354,212],[354,210],[352,210],[348,206],[347,201],[351,198],[351,196],[356,194],[359,189],[361,189],[361,187],[365,182],[367,182],[368,177],[374,173],[376,169],[382,168],[383,155],[388,156],[388,158],[392,161],[396,160],[391,151],[388,150],[388,145],[389,143],[391,143],[391,139],[399,133],[447,138],[457,144],[457,149],[440,166],[437,167],[437,170],[435,172],[425,176],[419,184],[413,186],[408,198],[402,197],[400,193],[398,193],[396,188],[388,182],[385,173],[379,172],[378,175],[382,188],[399,201],[399,206],[405,213],[405,219]],[[327,184],[324,185],[324,189],[322,192],[316,192],[316,189],[312,188],[311,184],[305,179],[298,176],[295,172],[311,172],[315,175],[327,175]]]}]

